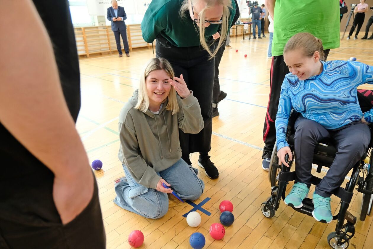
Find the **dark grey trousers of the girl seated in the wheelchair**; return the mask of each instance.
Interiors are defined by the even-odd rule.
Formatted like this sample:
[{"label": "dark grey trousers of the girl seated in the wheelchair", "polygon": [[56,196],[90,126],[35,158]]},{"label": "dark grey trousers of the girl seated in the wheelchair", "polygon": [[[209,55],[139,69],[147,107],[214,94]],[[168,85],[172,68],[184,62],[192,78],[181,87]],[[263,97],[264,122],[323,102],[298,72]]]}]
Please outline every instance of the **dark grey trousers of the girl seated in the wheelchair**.
[{"label": "dark grey trousers of the girl seated in the wheelchair", "polygon": [[345,176],[361,159],[370,142],[369,127],[360,120],[353,121],[335,130],[326,130],[319,123],[299,115],[295,121],[295,174],[298,183],[311,186],[313,152],[316,143],[324,138],[333,138],[338,152],[326,175],[316,186],[315,191],[329,197],[341,186]]}]

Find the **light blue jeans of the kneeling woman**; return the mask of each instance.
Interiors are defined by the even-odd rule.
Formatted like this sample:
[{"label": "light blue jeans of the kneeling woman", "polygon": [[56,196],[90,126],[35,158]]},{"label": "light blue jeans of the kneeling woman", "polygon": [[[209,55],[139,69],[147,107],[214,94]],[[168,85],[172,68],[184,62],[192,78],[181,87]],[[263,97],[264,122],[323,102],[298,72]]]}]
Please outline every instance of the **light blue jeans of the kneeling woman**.
[{"label": "light blue jeans of the kneeling woman", "polygon": [[[145,218],[157,219],[165,215],[169,201],[167,194],[138,184],[124,164],[123,169],[126,177],[121,178],[115,184],[117,196],[114,203]],[[198,199],[205,188],[203,181],[197,177],[197,173],[198,169],[192,168],[183,159],[179,159],[170,168],[157,172],[160,177],[171,184],[170,188],[181,199],[192,201]]]}]

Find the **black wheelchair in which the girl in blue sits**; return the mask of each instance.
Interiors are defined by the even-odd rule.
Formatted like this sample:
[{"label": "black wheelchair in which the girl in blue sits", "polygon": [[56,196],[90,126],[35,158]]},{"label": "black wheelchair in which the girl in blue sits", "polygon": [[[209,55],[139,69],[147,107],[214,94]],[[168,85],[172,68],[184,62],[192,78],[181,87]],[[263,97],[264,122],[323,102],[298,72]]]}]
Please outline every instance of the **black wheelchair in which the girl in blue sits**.
[{"label": "black wheelchair in which the girl in blue sits", "polygon": [[[360,101],[359,101],[360,102]],[[363,107],[360,105],[362,110]],[[369,110],[371,108],[367,107]],[[286,155],[285,160],[289,164],[289,168],[284,164],[278,165],[277,148],[276,145],[273,148],[272,157],[270,159],[270,166],[268,172],[268,178],[271,183],[271,196],[261,204],[261,211],[267,218],[275,216],[275,212],[278,210],[281,199],[285,199],[286,186],[289,181],[295,180],[295,171],[290,171],[291,166],[295,160],[294,152],[294,124],[300,113],[292,111],[289,117],[288,130],[286,133],[286,140],[292,151],[292,160],[289,160]],[[372,130],[372,127],[370,127]],[[327,241],[332,248],[348,248],[350,239],[355,234],[355,224],[357,218],[354,217],[347,209],[349,208],[353,191],[356,190],[363,194],[363,200],[361,204],[360,220],[364,221],[367,215],[371,214],[372,202],[373,202],[373,132],[371,131],[371,140],[368,146],[367,152],[363,157],[354,165],[352,168],[352,175],[345,187],[339,187],[333,192],[333,195],[341,199],[340,208],[338,214],[333,216],[333,220],[337,220],[335,231],[327,236]],[[332,164],[336,148],[332,144],[332,140],[329,139],[321,141],[316,144],[314,151],[313,164],[317,165],[317,172],[321,172],[322,166],[330,167]],[[364,162],[365,159],[365,162]],[[321,181],[320,178],[313,176],[312,184],[317,185]],[[289,205],[292,206],[292,205]],[[312,199],[305,198],[303,200],[303,206],[301,208],[292,208],[295,211],[303,214],[312,216],[314,209]],[[347,221],[345,223],[345,220]],[[321,220],[320,222],[326,223]]]}]

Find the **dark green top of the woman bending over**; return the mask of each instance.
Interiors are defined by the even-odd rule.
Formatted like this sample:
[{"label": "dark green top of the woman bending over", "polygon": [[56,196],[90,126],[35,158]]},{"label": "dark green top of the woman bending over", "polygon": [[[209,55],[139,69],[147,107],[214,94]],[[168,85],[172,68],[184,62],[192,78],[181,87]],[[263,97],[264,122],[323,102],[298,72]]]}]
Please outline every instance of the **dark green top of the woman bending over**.
[{"label": "dark green top of the woman bending over", "polygon": [[[152,43],[160,34],[176,47],[200,46],[200,36],[197,24],[190,18],[189,13],[184,19],[180,18],[179,10],[183,0],[151,1],[141,22],[142,38]],[[229,27],[235,18],[236,3],[232,0],[229,16]],[[205,37],[211,39],[220,28],[220,24],[211,24],[205,29]]]}]

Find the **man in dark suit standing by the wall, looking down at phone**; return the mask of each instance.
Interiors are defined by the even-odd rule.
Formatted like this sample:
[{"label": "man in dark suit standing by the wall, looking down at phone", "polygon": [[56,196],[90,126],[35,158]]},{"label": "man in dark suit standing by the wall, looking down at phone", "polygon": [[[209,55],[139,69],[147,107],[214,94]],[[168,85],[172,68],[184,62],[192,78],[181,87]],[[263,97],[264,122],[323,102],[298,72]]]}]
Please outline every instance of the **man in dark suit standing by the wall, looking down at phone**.
[{"label": "man in dark suit standing by the wall, looking down at phone", "polygon": [[116,0],[112,1],[112,7],[107,8],[107,19],[112,22],[112,31],[114,32],[119,57],[123,56],[119,34],[122,35],[124,51],[126,52],[126,56],[129,57],[126,24],[124,23],[124,20],[127,19],[127,15],[124,8],[118,6]]}]

